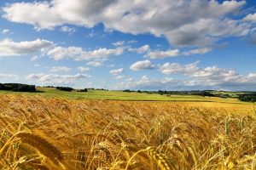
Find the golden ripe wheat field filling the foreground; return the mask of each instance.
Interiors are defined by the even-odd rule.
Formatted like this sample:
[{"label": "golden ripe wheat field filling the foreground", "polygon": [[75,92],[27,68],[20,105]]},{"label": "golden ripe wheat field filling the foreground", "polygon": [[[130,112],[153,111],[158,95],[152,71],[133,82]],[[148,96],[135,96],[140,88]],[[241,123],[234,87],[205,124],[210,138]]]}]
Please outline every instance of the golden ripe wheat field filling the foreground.
[{"label": "golden ripe wheat field filling the foreground", "polygon": [[0,169],[256,169],[253,105],[0,96]]}]

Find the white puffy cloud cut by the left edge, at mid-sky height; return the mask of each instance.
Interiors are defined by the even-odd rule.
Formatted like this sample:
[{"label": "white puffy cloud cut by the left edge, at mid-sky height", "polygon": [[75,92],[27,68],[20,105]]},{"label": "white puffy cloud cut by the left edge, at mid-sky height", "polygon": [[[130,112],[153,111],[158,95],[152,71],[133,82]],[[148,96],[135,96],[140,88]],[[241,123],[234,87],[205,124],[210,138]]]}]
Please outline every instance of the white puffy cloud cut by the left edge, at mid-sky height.
[{"label": "white puffy cloud cut by the left edge, at mid-sky height", "polygon": [[53,42],[44,39],[31,42],[14,42],[10,39],[4,39],[0,41],[0,57],[45,53],[52,46]]}]

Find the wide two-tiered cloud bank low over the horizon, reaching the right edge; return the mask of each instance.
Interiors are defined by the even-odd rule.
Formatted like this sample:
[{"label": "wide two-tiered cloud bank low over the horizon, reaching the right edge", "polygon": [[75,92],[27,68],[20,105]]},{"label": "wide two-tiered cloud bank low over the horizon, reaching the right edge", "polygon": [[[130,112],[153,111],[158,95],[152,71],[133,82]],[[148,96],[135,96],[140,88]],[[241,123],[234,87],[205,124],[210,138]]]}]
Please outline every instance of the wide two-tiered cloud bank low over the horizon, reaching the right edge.
[{"label": "wide two-tiered cloud bank low over the horizon, reaching the right edge", "polygon": [[150,78],[143,76],[139,80],[133,78],[120,82],[119,89],[148,89],[148,90],[186,90],[186,89],[230,89],[230,90],[255,90],[256,73],[250,72],[242,75],[234,69],[219,68],[217,65],[201,68],[199,61],[181,65],[166,63],[160,66],[162,74],[182,77]]}]

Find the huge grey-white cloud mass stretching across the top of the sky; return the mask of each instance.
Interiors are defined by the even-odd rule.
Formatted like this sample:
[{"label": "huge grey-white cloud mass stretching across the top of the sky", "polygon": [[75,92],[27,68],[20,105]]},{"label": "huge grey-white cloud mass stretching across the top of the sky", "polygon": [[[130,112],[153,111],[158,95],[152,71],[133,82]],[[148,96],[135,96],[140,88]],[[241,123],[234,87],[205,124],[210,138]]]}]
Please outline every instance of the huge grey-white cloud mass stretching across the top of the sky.
[{"label": "huge grey-white cloud mass stretching across the top of the sky", "polygon": [[[176,46],[205,46],[223,37],[247,35],[250,24],[230,20],[230,15],[237,14],[245,4],[235,0],[51,0],[10,3],[3,8],[3,17],[36,29],[102,23],[107,30],[163,36]],[[248,15],[247,20],[254,20],[254,15]]]}]

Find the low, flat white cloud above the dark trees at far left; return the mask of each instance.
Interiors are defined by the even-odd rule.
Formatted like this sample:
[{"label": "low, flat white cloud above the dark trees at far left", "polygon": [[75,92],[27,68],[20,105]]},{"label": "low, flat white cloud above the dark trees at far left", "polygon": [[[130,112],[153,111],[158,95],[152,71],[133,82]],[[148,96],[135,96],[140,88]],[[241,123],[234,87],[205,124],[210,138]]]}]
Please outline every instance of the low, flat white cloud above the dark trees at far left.
[{"label": "low, flat white cloud above the dark trees at far left", "polygon": [[28,80],[35,80],[43,84],[73,84],[82,79],[90,78],[86,74],[77,75],[56,75],[56,74],[30,74],[26,77]]}]

